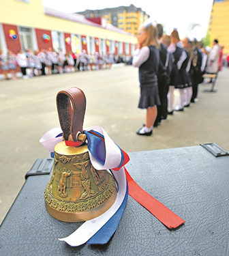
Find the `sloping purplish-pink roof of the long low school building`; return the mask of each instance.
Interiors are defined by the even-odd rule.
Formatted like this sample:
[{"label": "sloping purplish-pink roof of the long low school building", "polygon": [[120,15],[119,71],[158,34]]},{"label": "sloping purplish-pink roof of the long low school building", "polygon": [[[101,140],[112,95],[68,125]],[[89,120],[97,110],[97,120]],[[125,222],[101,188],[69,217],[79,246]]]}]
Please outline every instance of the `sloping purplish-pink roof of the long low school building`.
[{"label": "sloping purplish-pink roof of the long low school building", "polygon": [[89,25],[89,26],[92,26],[92,27],[99,27],[101,29],[107,29],[109,31],[113,31],[113,32],[116,32],[116,33],[121,33],[121,34],[124,34],[124,35],[130,35],[130,36],[133,36],[135,37],[135,35],[133,35],[132,33],[128,33],[128,32],[125,32],[111,24],[106,24],[106,26],[102,26],[102,25],[99,25],[97,23],[93,23],[91,22],[90,20],[87,20],[87,18],[85,18],[85,16],[83,15],[80,15],[80,14],[66,14],[65,12],[59,12],[57,10],[53,10],[53,9],[50,9],[50,8],[46,8],[44,7],[44,14],[46,15],[49,15],[49,16],[53,16],[53,17],[56,17],[56,18],[63,18],[64,20],[70,20],[70,21],[73,21],[75,23],[81,23],[81,24],[84,24],[84,25]]}]

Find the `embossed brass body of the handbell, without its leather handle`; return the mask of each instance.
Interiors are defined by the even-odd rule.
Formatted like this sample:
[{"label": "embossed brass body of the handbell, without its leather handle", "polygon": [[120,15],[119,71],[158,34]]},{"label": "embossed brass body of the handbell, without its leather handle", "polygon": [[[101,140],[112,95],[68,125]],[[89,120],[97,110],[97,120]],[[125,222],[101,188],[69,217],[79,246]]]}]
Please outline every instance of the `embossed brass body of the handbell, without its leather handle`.
[{"label": "embossed brass body of the handbell, without its leather handle", "polygon": [[52,177],[44,192],[46,210],[60,221],[88,221],[115,202],[115,180],[106,170],[96,170],[87,145],[55,147]]}]

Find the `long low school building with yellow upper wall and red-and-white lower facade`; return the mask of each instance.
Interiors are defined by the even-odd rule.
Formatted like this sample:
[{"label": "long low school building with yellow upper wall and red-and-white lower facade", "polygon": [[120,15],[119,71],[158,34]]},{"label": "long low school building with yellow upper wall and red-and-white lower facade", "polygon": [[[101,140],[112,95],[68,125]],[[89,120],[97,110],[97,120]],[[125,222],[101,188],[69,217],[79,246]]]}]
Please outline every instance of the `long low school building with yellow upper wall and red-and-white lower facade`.
[{"label": "long low school building with yellow upper wall and red-and-white lower facade", "polygon": [[[104,22],[105,21],[105,22]],[[42,0],[0,1],[0,48],[17,53],[31,48],[62,49],[79,53],[125,53],[131,55],[137,38],[106,20],[88,20],[80,14],[65,14],[45,8]]]}]

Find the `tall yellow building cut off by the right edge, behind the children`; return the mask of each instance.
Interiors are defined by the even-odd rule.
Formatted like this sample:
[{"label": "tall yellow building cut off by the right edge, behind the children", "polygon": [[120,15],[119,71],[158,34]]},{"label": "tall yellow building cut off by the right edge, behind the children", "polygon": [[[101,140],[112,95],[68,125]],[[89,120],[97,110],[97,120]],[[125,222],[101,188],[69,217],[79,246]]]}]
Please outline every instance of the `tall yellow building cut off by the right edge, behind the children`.
[{"label": "tall yellow building cut off by the right edge, behind the children", "polygon": [[229,53],[229,1],[213,4],[208,33],[211,42],[217,38],[219,44],[224,45],[224,53]]}]

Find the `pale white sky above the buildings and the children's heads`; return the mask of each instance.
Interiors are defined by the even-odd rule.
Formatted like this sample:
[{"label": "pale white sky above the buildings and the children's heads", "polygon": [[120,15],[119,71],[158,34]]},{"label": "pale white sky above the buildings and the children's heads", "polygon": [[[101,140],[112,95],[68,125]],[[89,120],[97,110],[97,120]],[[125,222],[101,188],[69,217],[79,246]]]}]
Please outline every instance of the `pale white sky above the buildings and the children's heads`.
[{"label": "pale white sky above the buildings and the children's heads", "polygon": [[[43,5],[65,13],[100,10],[118,6],[135,5],[142,8],[157,23],[164,25],[170,34],[174,27],[180,38],[189,36],[200,40],[207,33],[213,0],[131,0],[131,1],[99,1],[99,0],[42,0]],[[192,32],[188,30],[192,23],[198,24]]]}]

